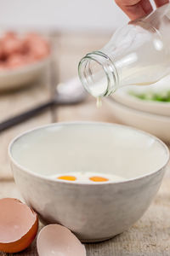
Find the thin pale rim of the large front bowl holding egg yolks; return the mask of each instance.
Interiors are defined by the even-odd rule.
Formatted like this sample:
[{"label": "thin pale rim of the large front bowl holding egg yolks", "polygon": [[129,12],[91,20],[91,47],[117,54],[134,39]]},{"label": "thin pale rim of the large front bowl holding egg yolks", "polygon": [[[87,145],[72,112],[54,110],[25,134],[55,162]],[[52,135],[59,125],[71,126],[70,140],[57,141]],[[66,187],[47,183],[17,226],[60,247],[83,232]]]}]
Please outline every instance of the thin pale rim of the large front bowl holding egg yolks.
[{"label": "thin pale rim of the large front bowl holding egg yolks", "polygon": [[[82,182],[75,183],[75,182],[66,181],[66,180],[52,179],[48,176],[45,176],[45,175],[42,175],[42,174],[39,174],[39,173],[36,173],[36,172],[32,172],[29,168],[26,168],[26,167],[20,165],[16,160],[14,160],[14,157],[12,155],[12,147],[13,147],[14,143],[16,143],[17,140],[20,139],[20,137],[24,137],[26,134],[29,134],[29,133],[34,132],[34,131],[38,131],[38,130],[41,130],[41,129],[45,129],[45,128],[48,128],[48,127],[51,127],[51,126],[58,126],[58,125],[66,125],[66,126],[67,125],[105,125],[105,126],[122,127],[123,129],[138,131],[139,133],[144,134],[147,137],[151,137],[156,142],[158,142],[161,145],[161,147],[165,150],[165,154],[167,155],[167,159],[165,160],[165,163],[163,163],[162,166],[154,172],[148,172],[147,174],[140,175],[139,177],[128,178],[128,179],[121,180],[121,181],[116,181],[116,182],[107,181],[107,182],[102,182],[102,183],[82,183]],[[112,123],[105,123],[105,122],[95,122],[95,121],[72,121],[72,122],[59,122],[59,123],[52,123],[52,124],[48,124],[48,125],[40,125],[40,126],[37,126],[33,129],[30,129],[28,131],[24,131],[24,132],[20,133],[20,135],[14,137],[14,139],[8,144],[8,157],[9,157],[9,160],[14,164],[14,166],[17,166],[20,169],[21,172],[25,172],[26,174],[31,175],[33,177],[38,177],[42,180],[45,180],[48,183],[64,183],[64,184],[70,184],[70,185],[74,185],[74,186],[76,186],[76,185],[77,186],[80,186],[80,185],[81,186],[82,185],[83,186],[87,186],[87,185],[88,186],[89,185],[90,186],[99,186],[99,185],[108,185],[108,184],[116,184],[116,183],[129,183],[129,182],[133,182],[135,180],[142,179],[144,177],[149,177],[149,176],[155,174],[156,172],[161,172],[161,170],[164,169],[167,166],[167,163],[170,160],[170,152],[169,152],[169,149],[167,148],[167,145],[165,143],[163,143],[159,138],[151,135],[148,132],[133,128],[133,127],[128,126],[128,125],[119,125],[119,124],[112,124]]]}]

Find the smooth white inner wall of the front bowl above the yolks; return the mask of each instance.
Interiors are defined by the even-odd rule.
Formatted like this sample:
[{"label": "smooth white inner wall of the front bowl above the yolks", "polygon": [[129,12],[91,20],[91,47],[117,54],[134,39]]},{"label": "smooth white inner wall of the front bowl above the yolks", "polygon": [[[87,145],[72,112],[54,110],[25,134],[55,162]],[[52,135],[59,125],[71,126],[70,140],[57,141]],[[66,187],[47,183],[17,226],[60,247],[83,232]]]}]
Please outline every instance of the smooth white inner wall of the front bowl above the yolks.
[{"label": "smooth white inner wall of the front bowl above the yolks", "polygon": [[65,123],[40,127],[17,137],[12,160],[42,176],[98,172],[125,178],[155,172],[168,160],[161,141],[122,125]]}]

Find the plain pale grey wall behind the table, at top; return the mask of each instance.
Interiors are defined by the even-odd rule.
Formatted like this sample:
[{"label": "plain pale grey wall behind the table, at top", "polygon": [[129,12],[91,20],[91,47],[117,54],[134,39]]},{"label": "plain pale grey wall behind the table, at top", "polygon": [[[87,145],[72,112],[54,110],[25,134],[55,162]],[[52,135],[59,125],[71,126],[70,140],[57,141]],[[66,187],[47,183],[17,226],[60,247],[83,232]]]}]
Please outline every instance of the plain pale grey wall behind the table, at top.
[{"label": "plain pale grey wall behind the table, at top", "polygon": [[3,27],[113,32],[127,17],[113,0],[0,0]]}]

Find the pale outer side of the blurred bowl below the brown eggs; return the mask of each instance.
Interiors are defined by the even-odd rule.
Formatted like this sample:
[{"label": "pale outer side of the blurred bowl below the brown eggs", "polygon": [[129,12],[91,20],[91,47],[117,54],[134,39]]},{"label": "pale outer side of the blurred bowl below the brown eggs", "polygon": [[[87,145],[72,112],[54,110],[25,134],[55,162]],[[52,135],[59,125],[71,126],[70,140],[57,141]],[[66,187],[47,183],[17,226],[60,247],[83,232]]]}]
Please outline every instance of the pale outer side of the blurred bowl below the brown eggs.
[{"label": "pale outer side of the blurred bowl below the brown eggs", "polygon": [[38,79],[48,65],[49,57],[35,63],[0,71],[0,91],[14,90]]}]

